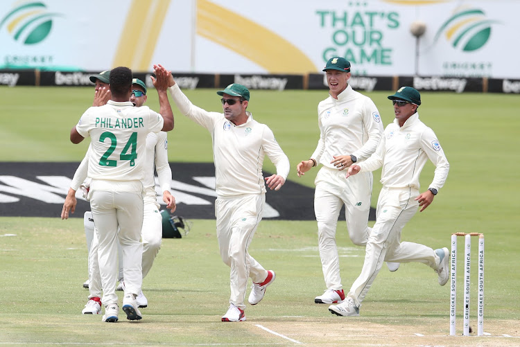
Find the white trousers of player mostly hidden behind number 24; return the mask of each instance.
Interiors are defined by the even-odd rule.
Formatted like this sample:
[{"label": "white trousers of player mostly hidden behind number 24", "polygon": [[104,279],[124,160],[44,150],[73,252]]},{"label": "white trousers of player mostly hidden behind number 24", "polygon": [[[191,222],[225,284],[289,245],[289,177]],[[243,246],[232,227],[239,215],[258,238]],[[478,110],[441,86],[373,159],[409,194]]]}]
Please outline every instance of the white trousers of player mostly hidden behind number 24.
[{"label": "white trousers of player mostly hidden behind number 24", "polygon": [[[157,199],[152,202],[150,199],[144,199],[144,217],[143,227],[141,229],[141,239],[143,241],[143,278],[146,277],[150,269],[152,268],[153,262],[159,249],[161,249],[162,242],[162,216],[159,213],[159,204]],[[85,215],[90,212],[85,212]],[[90,213],[92,215],[92,213]],[[92,222],[92,228],[94,228],[94,222]],[[99,272],[98,263],[98,235],[97,231],[94,231],[94,238],[92,238],[92,245],[89,252],[89,299],[94,297],[101,297],[101,273]],[[119,255],[119,274],[118,280],[123,277],[123,259],[121,246],[118,244],[118,255]],[[125,283],[126,284],[126,283]]]}]

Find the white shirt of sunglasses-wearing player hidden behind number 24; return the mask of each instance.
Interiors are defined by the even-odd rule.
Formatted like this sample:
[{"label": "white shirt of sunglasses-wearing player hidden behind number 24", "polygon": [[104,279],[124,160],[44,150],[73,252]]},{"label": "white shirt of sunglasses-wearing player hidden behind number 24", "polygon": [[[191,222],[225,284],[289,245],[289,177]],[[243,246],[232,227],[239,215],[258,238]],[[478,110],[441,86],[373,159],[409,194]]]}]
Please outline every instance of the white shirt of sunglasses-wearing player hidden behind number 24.
[{"label": "white shirt of sunglasses-wearing player hidden behind number 24", "polygon": [[[85,158],[83,158],[83,161],[81,161],[80,166],[78,166],[78,169],[74,172],[74,177],[71,182],[71,188],[73,190],[78,190],[80,184],[83,184],[87,179],[89,157],[92,152],[90,148],[91,146],[89,146],[87,154]],[[143,186],[146,189],[146,195],[150,195],[150,197],[156,197],[155,175],[153,172],[154,164],[155,170],[157,170],[157,176],[159,177],[161,191],[170,190],[171,168],[168,163],[168,139],[166,132],[150,132],[150,134],[146,136],[146,164]]]}]

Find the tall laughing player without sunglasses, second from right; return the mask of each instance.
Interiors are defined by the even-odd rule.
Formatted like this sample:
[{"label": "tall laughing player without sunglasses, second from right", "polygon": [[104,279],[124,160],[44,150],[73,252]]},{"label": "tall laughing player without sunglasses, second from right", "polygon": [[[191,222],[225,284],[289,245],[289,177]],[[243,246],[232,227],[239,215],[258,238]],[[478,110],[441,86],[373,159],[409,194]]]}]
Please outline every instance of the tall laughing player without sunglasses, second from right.
[{"label": "tall laughing player without sunglasses, second from right", "polygon": [[364,246],[370,228],[372,172],[345,180],[343,168],[361,162],[376,150],[383,133],[376,105],[349,85],[350,62],[343,57],[329,59],[323,71],[327,74],[329,97],[318,104],[320,140],[311,155],[297,165],[299,177],[319,163],[316,175],[314,212],[318,222],[318,248],[327,290],[316,296],[315,303],[337,303],[345,299],[340,278],[340,262],[336,246],[336,226],[345,205],[345,220],[352,243]]}]

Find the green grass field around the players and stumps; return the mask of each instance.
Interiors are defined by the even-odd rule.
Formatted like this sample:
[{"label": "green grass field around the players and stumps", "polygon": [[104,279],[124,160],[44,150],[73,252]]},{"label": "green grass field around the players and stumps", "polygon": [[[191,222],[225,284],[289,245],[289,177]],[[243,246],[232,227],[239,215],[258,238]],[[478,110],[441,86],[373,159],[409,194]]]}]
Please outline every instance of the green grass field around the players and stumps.
[{"label": "green grass field around the players and stumps", "polygon": [[[220,97],[215,91],[186,94],[196,105],[218,111]],[[0,161],[83,158],[88,141],[73,145],[69,132],[91,105],[92,88],[0,87],[0,92]],[[155,91],[149,94],[146,105],[158,109]],[[389,94],[367,94],[384,125],[393,119]],[[291,160],[288,179],[306,186],[313,186],[317,170],[298,178],[295,166],[315,148],[316,107],[326,96],[327,91],[252,91],[250,111],[271,127]],[[194,220],[187,238],[164,240],[144,281],[149,301],[142,311],[144,319],[128,323],[121,314],[117,324],[101,323],[101,316],[80,314],[88,295],[81,287],[87,275],[83,221],[49,216],[0,217],[0,345],[519,346],[520,98],[423,93],[422,100],[421,119],[437,134],[451,170],[446,186],[426,211],[406,225],[402,238],[437,248],[449,247],[454,231],[485,233],[485,331],[491,336],[447,336],[449,287],[437,285],[436,274],[420,264],[401,265],[393,274],[383,268],[363,302],[361,317],[332,317],[327,305],[313,303],[325,289],[315,222],[269,220],[261,222],[250,253],[274,269],[277,280],[259,305],[248,305],[248,321],[220,322],[228,305],[229,269],[218,256],[214,220]],[[177,118],[168,135],[170,161],[210,162],[207,131],[173,109]],[[268,159],[265,168],[273,168]],[[380,172],[374,177],[372,206],[381,188]],[[423,190],[431,177],[433,166],[428,163]],[[348,240],[345,222],[338,230],[343,285],[348,289],[361,271],[364,252]],[[460,258],[462,243],[460,239]],[[458,269],[460,335],[462,263]],[[471,326],[475,330],[476,284],[474,263]]]}]

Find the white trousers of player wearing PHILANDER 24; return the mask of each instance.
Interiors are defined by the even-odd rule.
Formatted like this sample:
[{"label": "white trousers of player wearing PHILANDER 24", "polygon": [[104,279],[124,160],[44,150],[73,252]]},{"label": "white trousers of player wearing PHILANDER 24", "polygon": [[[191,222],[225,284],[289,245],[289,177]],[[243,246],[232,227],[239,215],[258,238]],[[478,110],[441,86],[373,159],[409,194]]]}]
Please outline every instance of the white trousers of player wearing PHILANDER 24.
[{"label": "white trousers of player wearing PHILANDER 24", "polygon": [[[108,190],[110,188],[110,190]],[[98,235],[103,305],[117,303],[117,240],[123,251],[125,294],[138,295],[143,281],[143,189],[140,181],[92,180],[90,207]],[[118,232],[119,227],[119,232]]]}]

